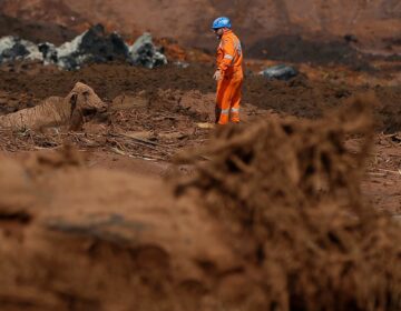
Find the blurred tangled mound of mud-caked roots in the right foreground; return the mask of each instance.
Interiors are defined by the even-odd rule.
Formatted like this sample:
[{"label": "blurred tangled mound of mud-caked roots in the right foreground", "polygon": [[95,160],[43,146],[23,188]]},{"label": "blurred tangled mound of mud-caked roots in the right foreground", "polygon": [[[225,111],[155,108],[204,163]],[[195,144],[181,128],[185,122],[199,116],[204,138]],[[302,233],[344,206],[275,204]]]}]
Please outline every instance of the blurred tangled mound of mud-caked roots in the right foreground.
[{"label": "blurred tangled mound of mud-caked roots in the right foreground", "polygon": [[[360,194],[374,101],[353,98],[314,122],[223,129],[200,151],[209,161],[195,161],[196,174],[177,184],[235,237],[232,247],[257,271],[250,299],[264,310],[400,308],[400,228]],[[365,138],[356,154],[343,144],[350,133]]]}]

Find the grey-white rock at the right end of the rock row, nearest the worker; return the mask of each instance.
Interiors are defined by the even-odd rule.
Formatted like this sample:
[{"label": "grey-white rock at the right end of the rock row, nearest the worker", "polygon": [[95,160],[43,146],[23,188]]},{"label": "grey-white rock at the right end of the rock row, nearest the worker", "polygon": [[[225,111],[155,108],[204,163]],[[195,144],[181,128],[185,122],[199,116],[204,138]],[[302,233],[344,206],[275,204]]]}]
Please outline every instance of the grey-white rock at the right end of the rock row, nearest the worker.
[{"label": "grey-white rock at the right end of the rock row, nearest the worker", "polygon": [[129,58],[130,63],[150,69],[167,63],[167,58],[155,47],[148,32],[129,47]]}]

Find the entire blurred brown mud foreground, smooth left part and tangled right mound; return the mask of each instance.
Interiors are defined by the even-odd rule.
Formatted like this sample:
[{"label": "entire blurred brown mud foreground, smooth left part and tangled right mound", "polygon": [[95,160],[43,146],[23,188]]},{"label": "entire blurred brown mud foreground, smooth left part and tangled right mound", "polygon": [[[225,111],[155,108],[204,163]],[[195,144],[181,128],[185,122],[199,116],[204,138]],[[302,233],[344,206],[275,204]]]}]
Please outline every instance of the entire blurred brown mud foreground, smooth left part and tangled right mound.
[{"label": "entire blurred brown mud foreground, smooth left part and tangled right mound", "polygon": [[169,183],[2,157],[1,309],[399,310],[401,228],[359,190],[372,101],[224,128]]}]

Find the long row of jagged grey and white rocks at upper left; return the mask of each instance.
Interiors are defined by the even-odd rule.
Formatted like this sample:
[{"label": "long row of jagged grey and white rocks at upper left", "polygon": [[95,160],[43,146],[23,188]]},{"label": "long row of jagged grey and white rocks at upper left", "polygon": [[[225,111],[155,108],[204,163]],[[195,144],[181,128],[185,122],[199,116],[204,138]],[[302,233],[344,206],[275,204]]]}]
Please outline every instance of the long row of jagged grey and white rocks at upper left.
[{"label": "long row of jagged grey and white rocks at upper left", "polygon": [[49,42],[35,44],[17,37],[3,37],[0,39],[0,63],[14,60],[41,61],[63,70],[77,70],[87,63],[108,61],[127,61],[146,68],[167,63],[167,58],[154,46],[149,33],[145,33],[129,47],[118,33],[106,34],[101,24],[94,26],[60,47]]}]

